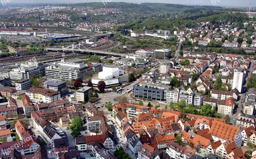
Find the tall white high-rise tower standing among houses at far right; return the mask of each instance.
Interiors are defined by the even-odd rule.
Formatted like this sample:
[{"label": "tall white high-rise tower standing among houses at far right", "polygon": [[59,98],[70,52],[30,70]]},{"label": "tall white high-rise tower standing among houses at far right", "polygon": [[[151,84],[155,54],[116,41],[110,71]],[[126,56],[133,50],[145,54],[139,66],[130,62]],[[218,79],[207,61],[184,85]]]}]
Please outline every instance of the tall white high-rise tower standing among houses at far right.
[{"label": "tall white high-rise tower standing among houses at far right", "polygon": [[236,88],[239,91],[239,93],[242,92],[244,75],[245,75],[244,69],[235,69],[234,70],[232,90]]}]

